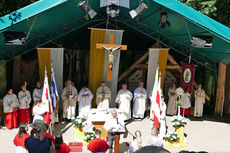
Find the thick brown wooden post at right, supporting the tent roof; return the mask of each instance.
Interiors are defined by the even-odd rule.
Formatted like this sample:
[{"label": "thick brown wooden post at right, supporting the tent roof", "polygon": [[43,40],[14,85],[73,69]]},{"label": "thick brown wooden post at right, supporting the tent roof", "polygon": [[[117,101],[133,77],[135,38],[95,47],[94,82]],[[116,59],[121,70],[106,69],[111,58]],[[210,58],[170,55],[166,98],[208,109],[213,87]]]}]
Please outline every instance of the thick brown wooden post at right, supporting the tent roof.
[{"label": "thick brown wooden post at right, supporting the tent roof", "polygon": [[224,107],[225,81],[226,81],[226,65],[223,63],[219,63],[215,114],[221,117],[223,115],[223,107]]}]

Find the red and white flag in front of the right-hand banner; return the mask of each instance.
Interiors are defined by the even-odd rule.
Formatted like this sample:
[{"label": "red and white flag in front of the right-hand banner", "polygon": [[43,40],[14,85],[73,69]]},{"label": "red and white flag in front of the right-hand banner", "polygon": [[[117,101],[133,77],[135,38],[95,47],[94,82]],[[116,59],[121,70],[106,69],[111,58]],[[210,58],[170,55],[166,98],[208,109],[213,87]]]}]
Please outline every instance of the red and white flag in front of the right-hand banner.
[{"label": "red and white flag in front of the right-hand banner", "polygon": [[154,104],[154,117],[153,123],[155,127],[160,126],[160,115],[161,115],[161,76],[157,84],[156,103]]}]

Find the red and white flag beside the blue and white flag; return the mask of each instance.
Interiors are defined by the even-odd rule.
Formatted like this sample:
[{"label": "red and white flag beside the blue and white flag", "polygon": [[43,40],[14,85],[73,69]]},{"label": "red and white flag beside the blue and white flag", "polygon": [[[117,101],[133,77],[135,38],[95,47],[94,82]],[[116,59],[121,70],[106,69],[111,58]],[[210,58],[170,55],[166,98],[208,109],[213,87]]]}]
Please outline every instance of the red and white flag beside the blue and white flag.
[{"label": "red and white flag beside the blue and white flag", "polygon": [[51,99],[50,99],[50,91],[49,91],[49,81],[48,81],[48,75],[47,70],[45,68],[45,79],[44,79],[44,85],[43,85],[43,93],[42,93],[42,103],[43,107],[46,110],[44,121],[47,124],[50,124],[50,114],[52,113],[52,105],[51,105]]}]

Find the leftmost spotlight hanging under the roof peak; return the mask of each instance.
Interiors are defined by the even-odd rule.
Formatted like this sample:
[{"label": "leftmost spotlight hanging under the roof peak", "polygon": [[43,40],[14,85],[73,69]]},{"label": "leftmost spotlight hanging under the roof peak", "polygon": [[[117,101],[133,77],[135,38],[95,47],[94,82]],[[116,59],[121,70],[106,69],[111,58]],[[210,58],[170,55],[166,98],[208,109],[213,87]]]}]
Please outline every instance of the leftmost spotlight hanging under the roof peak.
[{"label": "leftmost spotlight hanging under the roof peak", "polygon": [[95,11],[91,8],[91,6],[89,6],[87,0],[81,1],[81,2],[78,4],[78,7],[80,7],[81,10],[83,11],[84,17],[85,17],[86,20],[89,20],[89,18],[90,18],[90,19],[93,19],[93,18],[97,15],[97,12],[95,12]]}]

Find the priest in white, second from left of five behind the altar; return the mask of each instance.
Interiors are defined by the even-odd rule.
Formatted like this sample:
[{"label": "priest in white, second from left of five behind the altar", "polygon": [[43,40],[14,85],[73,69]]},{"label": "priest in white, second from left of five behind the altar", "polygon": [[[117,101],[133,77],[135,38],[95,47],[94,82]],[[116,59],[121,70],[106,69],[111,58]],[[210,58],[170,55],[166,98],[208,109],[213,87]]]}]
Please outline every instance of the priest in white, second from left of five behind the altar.
[{"label": "priest in white, second from left of five behind the altar", "polygon": [[84,87],[81,89],[78,95],[78,112],[79,117],[84,117],[87,119],[88,113],[91,109],[91,101],[93,99],[92,92],[87,88]]}]

